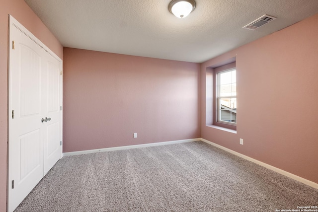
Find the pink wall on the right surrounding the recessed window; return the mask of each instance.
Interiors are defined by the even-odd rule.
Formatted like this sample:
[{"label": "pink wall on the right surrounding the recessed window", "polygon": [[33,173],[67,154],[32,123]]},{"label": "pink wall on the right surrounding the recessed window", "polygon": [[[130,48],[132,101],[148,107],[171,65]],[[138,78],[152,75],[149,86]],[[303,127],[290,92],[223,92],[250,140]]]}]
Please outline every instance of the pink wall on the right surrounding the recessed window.
[{"label": "pink wall on the right surrounding the recessed window", "polygon": [[[205,125],[206,68],[233,57],[237,134]],[[318,14],[203,63],[201,137],[318,183],[317,70]]]}]

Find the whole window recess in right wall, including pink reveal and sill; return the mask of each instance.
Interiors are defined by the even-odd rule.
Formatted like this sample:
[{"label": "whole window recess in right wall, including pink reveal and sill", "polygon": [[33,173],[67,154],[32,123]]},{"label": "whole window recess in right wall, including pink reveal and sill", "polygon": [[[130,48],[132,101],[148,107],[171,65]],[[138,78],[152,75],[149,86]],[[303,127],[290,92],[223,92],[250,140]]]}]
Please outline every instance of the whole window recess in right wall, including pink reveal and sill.
[{"label": "whole window recess in right wall, including pink reveal and sill", "polygon": [[206,68],[206,126],[237,131],[236,57]]}]

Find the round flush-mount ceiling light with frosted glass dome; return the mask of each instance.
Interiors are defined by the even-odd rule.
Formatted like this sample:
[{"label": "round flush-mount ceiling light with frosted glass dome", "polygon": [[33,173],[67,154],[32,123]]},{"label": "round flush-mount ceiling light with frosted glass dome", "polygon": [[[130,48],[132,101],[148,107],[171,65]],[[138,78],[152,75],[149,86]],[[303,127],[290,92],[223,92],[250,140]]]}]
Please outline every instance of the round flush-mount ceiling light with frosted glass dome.
[{"label": "round flush-mount ceiling light with frosted glass dome", "polygon": [[185,18],[195,8],[194,0],[172,0],[169,3],[169,11],[178,18]]}]

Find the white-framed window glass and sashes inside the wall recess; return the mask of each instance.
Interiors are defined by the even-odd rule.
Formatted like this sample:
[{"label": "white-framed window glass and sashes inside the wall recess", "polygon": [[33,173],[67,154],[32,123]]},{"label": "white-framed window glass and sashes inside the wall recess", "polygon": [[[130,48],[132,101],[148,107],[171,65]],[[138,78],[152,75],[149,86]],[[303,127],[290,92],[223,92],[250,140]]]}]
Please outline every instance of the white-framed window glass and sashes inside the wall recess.
[{"label": "white-framed window glass and sashes inside the wall recess", "polygon": [[217,72],[217,122],[237,123],[236,69]]}]

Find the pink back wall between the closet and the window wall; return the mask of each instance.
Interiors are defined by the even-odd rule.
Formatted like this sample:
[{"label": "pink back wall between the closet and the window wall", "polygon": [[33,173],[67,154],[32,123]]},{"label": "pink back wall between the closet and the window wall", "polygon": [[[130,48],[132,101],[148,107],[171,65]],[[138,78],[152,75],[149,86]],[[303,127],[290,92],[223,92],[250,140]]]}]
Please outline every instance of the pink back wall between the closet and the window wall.
[{"label": "pink back wall between the closet and the window wall", "polygon": [[199,76],[200,64],[64,48],[63,151],[200,138]]}]

